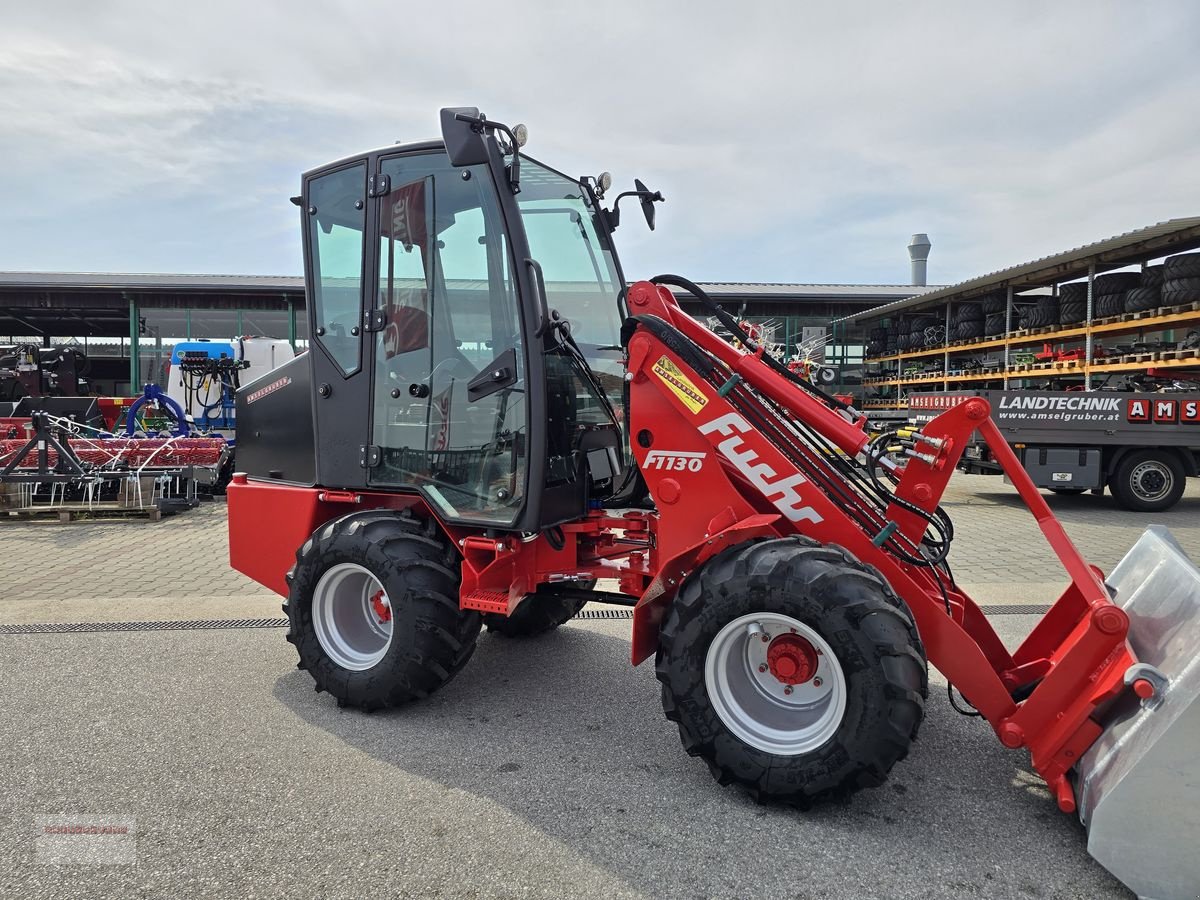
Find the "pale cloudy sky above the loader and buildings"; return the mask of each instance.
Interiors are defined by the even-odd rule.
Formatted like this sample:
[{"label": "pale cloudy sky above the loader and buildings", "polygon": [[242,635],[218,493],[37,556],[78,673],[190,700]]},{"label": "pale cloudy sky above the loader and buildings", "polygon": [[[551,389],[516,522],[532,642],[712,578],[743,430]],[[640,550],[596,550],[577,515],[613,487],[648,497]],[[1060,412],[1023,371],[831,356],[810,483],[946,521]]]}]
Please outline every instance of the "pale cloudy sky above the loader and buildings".
[{"label": "pale cloudy sky above the loader and buildings", "polygon": [[0,270],[298,274],[299,173],[524,121],[626,274],[954,282],[1200,215],[1200,4],[0,0]]}]

